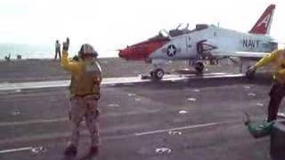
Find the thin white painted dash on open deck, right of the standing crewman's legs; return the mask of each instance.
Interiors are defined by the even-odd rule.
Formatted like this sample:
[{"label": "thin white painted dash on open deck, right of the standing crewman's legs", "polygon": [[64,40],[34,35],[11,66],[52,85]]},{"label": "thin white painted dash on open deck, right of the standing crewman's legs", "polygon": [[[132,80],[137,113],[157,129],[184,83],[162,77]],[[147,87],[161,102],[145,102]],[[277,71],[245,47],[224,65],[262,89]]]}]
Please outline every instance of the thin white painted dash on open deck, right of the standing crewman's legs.
[{"label": "thin white painted dash on open deck, right of the standing crewman's legs", "polygon": [[156,131],[151,131],[151,132],[139,132],[139,133],[134,133],[134,135],[135,135],[135,136],[142,136],[142,135],[156,134],[156,133],[160,133],[160,132],[169,132],[169,131],[177,131],[177,130],[187,130],[187,129],[201,128],[201,127],[207,127],[207,126],[213,126],[213,125],[219,125],[219,124],[224,124],[224,122],[220,122],[220,123],[209,123],[209,124],[188,125],[188,126],[183,126],[183,127],[178,127],[178,128],[169,128],[169,129],[156,130]]}]

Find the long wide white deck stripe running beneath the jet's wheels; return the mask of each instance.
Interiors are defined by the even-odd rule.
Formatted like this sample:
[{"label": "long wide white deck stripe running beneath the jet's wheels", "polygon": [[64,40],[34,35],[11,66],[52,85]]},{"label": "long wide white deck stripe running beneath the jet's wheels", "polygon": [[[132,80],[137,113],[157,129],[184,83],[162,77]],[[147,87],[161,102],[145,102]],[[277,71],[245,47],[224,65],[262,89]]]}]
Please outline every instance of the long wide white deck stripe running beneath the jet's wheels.
[{"label": "long wide white deck stripe running beneath the jet's wheels", "polygon": [[[242,77],[244,74],[226,74],[226,73],[211,73],[201,76],[197,75],[167,75],[161,81],[181,81],[188,79],[208,79],[208,78],[232,78]],[[139,76],[116,77],[116,78],[103,78],[102,85],[108,84],[134,84],[151,82],[151,79],[141,79]],[[1,91],[22,90],[22,89],[40,89],[40,88],[54,88],[54,87],[67,87],[69,80],[61,81],[44,81],[44,82],[27,82],[27,83],[3,83],[0,84]]]}]

